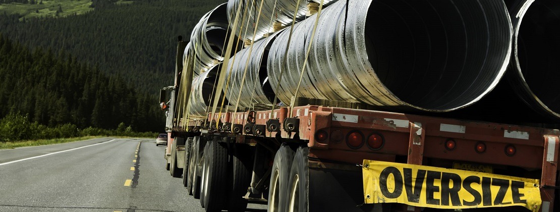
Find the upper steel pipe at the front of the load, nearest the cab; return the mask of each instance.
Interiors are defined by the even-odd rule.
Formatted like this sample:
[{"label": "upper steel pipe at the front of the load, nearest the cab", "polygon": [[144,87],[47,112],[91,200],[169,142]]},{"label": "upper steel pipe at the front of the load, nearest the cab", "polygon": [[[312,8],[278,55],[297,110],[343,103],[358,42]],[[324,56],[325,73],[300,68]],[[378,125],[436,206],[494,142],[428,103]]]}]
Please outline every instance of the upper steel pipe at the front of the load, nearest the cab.
[{"label": "upper steel pipe at the front of the load, nearest the cab", "polygon": [[206,13],[194,27],[185,56],[194,57],[194,72],[199,75],[223,61],[223,44],[227,39],[227,4],[223,3]]}]

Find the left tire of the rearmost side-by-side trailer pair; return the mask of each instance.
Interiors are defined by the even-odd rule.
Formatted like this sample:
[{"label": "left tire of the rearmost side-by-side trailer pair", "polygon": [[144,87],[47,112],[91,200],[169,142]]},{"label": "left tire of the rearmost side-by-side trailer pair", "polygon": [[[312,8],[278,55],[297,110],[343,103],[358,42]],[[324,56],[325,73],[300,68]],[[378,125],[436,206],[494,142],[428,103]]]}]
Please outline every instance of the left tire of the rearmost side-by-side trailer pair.
[{"label": "left tire of the rearmost side-by-side trailer pair", "polygon": [[268,190],[268,211],[287,211],[288,181],[293,162],[293,150],[283,143],[274,156],[270,186]]}]

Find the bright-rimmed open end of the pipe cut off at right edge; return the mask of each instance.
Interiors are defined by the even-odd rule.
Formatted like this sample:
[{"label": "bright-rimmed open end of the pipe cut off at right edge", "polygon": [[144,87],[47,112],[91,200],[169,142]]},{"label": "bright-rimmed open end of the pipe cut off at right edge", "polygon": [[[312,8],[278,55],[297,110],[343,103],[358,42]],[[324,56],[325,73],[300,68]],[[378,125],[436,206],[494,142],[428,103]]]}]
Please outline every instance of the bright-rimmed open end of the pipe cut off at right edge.
[{"label": "bright-rimmed open end of the pipe cut off at right edge", "polygon": [[560,2],[517,1],[512,8],[514,57],[507,79],[523,102],[560,119]]}]

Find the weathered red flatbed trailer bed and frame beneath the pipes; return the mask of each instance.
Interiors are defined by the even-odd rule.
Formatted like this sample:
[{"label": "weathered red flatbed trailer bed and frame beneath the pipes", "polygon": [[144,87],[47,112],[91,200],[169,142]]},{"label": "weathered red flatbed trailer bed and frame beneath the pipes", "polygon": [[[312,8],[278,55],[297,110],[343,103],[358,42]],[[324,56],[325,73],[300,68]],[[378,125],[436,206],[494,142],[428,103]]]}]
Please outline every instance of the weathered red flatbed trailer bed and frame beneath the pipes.
[{"label": "weathered red flatbed trailer bed and frame beneath the pipes", "polygon": [[[282,177],[276,178],[284,174],[282,172],[289,172],[282,167],[290,167],[290,177],[293,178],[295,173],[291,167],[300,164],[307,174],[300,177],[300,182],[304,181],[302,185],[306,186],[286,186],[290,181],[277,182],[276,186],[282,186],[280,195],[287,196],[278,196],[281,200],[276,201],[288,201],[283,203],[288,206],[294,199],[300,203],[305,201],[304,208],[309,207],[309,211],[370,211],[373,205],[364,204],[368,194],[364,192],[363,181],[373,179],[364,179],[362,169],[365,160],[375,160],[448,168],[450,172],[465,169],[538,179],[540,183],[535,187],[542,199],[538,211],[555,211],[558,130],[316,105],[294,107],[294,118],[288,118],[289,110],[289,107],[281,107],[273,112],[251,110],[216,113],[213,117],[209,114],[207,120],[189,121],[184,130],[176,129],[181,133],[175,136],[200,136],[203,140],[206,138],[206,145],[213,141],[226,142],[230,143],[230,148],[232,144],[265,147],[268,151],[264,154],[256,153],[256,147],[251,151],[252,159],[260,158],[253,160],[251,167],[261,169],[253,169],[251,188],[245,195],[249,200],[271,201],[270,196],[267,198],[263,194],[267,190],[263,179],[271,176],[270,181],[286,181]],[[193,146],[193,149],[197,147]],[[202,153],[204,145],[199,145],[198,149]],[[281,168],[270,170],[274,165],[265,161],[270,163],[275,155],[281,155],[278,154],[281,149],[291,151],[292,155],[304,154],[304,157],[293,159],[288,156],[280,160],[278,166]],[[198,166],[202,164],[198,163]],[[279,172],[276,177],[274,172]],[[273,187],[274,183],[270,183],[268,189]],[[295,193],[305,187],[308,190],[300,193],[301,196]],[[255,199],[255,194],[260,196]],[[385,204],[392,207],[383,208],[389,211],[422,209],[404,205],[407,202],[400,203],[403,205]],[[297,208],[291,207],[290,211]]]}]

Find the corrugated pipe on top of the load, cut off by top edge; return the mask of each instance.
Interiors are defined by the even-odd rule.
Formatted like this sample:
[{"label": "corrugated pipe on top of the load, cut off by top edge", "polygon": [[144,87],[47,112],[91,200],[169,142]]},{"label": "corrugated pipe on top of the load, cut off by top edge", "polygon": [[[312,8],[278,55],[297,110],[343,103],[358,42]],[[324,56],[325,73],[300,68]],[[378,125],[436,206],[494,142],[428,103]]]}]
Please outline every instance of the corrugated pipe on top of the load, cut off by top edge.
[{"label": "corrugated pipe on top of the load, cut off by top edge", "polygon": [[[274,24],[282,24],[282,26],[292,25],[293,16],[296,16],[296,22],[305,19],[307,11],[307,1],[300,0],[264,0],[261,15],[258,24],[256,18],[259,13],[260,2],[263,0],[229,0],[227,2],[227,17],[230,25],[233,25],[235,16],[239,16],[240,21],[237,22],[236,35],[245,40],[260,40],[265,35],[274,33]],[[320,0],[313,0],[320,3]],[[325,0],[323,3],[329,5],[337,0]],[[240,14],[237,14],[237,8],[241,4]],[[256,29],[256,34],[254,30]],[[231,26],[233,28],[233,26]]]}]

